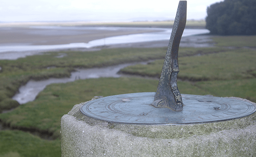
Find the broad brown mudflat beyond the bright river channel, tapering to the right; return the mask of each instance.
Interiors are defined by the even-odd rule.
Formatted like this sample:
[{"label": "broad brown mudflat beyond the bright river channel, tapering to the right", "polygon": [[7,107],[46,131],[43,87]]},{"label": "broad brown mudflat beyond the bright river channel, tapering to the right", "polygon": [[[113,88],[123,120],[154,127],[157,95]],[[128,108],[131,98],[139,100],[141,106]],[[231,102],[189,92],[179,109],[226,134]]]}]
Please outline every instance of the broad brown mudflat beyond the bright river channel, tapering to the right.
[{"label": "broad brown mudflat beyond the bright river channel, tapering to the right", "polygon": [[103,29],[58,29],[49,31],[47,27],[0,27],[0,45],[58,45],[84,42],[139,33],[156,32],[158,30],[142,28],[114,28],[113,30]]}]

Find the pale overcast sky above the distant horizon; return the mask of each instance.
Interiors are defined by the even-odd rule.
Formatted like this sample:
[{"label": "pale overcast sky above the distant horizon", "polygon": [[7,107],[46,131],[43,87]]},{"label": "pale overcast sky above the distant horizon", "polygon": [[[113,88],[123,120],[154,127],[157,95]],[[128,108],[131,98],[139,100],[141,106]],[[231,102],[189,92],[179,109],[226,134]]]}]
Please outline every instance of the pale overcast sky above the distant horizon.
[{"label": "pale overcast sky above the distant horizon", "polygon": [[[221,0],[187,0],[187,20]],[[179,0],[0,0],[0,22],[174,20]]]}]

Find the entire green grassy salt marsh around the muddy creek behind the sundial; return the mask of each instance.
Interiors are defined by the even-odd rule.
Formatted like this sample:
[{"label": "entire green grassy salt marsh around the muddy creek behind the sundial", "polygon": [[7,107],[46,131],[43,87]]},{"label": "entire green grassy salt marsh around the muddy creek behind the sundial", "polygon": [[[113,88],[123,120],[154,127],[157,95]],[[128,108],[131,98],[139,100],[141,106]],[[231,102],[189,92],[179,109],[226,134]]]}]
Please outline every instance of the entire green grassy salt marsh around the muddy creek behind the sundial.
[{"label": "entire green grassy salt marsh around the muddy creek behind the sundial", "polygon": [[[248,37],[250,38],[251,36]],[[241,44],[242,42],[232,37],[219,37],[214,40],[217,45],[225,40],[232,40],[230,43],[237,42],[237,45],[240,44],[237,47],[247,44]],[[231,44],[226,42],[224,46]],[[7,102],[28,80],[67,77],[74,68],[159,59],[148,65],[136,65],[123,70],[129,69],[129,73],[159,77],[166,49],[167,47],[102,49],[93,52],[63,51],[18,60],[0,60],[0,105],[1,102]],[[56,57],[63,53],[66,54],[65,57]],[[254,49],[244,48],[180,48],[178,77],[184,81],[178,81],[178,88],[184,94],[241,97],[256,102],[255,54]],[[137,77],[99,78],[51,84],[39,93],[33,102],[0,114],[0,121],[4,126],[16,129],[0,130],[0,157],[61,156],[60,118],[75,104],[100,95],[156,91],[157,84],[156,79]],[[48,133],[53,140],[41,139],[19,129]]]}]

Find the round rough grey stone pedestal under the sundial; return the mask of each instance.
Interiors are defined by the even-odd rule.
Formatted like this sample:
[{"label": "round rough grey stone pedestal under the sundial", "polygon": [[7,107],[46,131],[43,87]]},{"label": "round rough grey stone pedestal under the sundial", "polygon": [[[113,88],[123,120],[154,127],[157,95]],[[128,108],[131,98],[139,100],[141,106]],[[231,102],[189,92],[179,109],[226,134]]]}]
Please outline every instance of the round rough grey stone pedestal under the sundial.
[{"label": "round rough grey stone pedestal under the sundial", "polygon": [[87,117],[80,112],[83,104],[61,118],[62,157],[256,156],[255,113],[203,124],[134,125]]}]

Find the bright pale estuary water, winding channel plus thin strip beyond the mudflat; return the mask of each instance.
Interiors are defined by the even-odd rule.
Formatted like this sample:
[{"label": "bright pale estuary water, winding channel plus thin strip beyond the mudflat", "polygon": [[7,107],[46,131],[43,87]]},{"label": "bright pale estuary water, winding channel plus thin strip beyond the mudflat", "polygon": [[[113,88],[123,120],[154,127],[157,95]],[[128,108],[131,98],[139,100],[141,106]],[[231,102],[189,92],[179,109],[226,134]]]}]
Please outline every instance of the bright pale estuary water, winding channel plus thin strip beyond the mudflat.
[{"label": "bright pale estuary water, winding channel plus thin strip beyond the mudflat", "polygon": [[[52,50],[52,49],[70,49],[70,48],[91,48],[96,46],[113,45],[113,44],[128,44],[128,43],[138,43],[138,42],[152,42],[160,40],[169,40],[171,36],[172,29],[170,28],[131,28],[131,27],[58,27],[58,26],[42,26],[42,27],[32,27],[37,29],[37,31],[30,31],[28,34],[50,36],[50,35],[77,35],[86,34],[89,31],[131,31],[132,29],[149,29],[151,33],[140,33],[131,35],[121,35],[115,37],[102,38],[98,40],[92,40],[88,43],[69,43],[69,44],[58,44],[58,45],[31,45],[31,43],[8,43],[0,45],[0,53],[3,52],[22,52],[22,51],[42,51],[42,50]],[[38,31],[39,29],[39,31]],[[40,31],[41,30],[41,31]],[[185,29],[182,37],[206,34],[210,31],[207,29]]]}]

